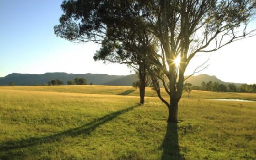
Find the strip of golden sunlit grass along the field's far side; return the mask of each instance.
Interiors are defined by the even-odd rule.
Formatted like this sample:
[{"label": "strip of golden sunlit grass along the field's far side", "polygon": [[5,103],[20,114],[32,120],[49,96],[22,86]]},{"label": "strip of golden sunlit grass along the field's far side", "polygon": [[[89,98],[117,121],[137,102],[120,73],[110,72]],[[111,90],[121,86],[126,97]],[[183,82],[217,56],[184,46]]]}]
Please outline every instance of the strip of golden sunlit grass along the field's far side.
[{"label": "strip of golden sunlit grass along the field's far side", "polygon": [[[27,90],[27,91],[49,91],[61,93],[86,93],[86,94],[104,94],[104,95],[129,95],[139,96],[139,89],[131,86],[95,86],[95,85],[73,85],[73,86],[0,86],[0,89],[8,90]],[[162,89],[162,96],[168,97]],[[156,97],[157,95],[151,88],[146,88],[147,97]],[[185,92],[182,98],[187,98]],[[234,98],[256,100],[256,94],[251,93],[231,93],[231,92],[209,92],[209,91],[192,91],[190,98],[195,99],[214,99],[214,98]]]}]

